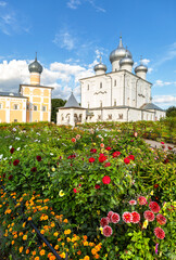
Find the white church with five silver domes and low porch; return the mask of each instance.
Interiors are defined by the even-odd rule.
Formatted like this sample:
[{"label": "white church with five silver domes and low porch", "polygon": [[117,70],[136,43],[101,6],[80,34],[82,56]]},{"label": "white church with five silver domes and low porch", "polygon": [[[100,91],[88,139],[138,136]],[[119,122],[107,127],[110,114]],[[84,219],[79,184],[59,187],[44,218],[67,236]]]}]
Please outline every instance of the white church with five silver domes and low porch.
[{"label": "white church with five silver domes and low porch", "polygon": [[112,72],[100,63],[95,66],[95,76],[80,79],[80,103],[72,93],[64,107],[59,107],[58,125],[98,121],[156,121],[165,117],[165,110],[152,103],[151,87],[146,76],[148,68],[142,64],[133,73],[133,55],[123,47],[111,52]]}]

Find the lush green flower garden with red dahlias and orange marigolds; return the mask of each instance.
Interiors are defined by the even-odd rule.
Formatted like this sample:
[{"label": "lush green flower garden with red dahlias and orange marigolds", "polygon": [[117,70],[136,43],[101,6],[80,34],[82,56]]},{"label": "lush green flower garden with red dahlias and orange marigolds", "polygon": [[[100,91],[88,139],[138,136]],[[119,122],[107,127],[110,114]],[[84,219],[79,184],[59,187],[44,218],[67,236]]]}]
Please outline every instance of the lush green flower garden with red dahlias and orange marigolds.
[{"label": "lush green flower garden with red dahlias and orange marigolds", "polygon": [[[50,123],[3,126],[0,129],[0,176],[7,190],[1,191],[0,199],[3,249],[13,250],[18,259],[54,259],[38,240],[28,220],[24,221],[23,209],[63,258],[66,252],[70,259],[84,260],[175,257],[175,154],[172,148],[150,148],[141,133],[136,132],[139,126],[138,122],[101,122],[74,129]],[[17,200],[16,206],[9,193]],[[156,205],[161,210],[153,212]],[[164,227],[160,218],[166,219]],[[99,230],[100,222],[106,223],[101,226],[104,235]],[[164,235],[163,239],[160,235]]]}]

